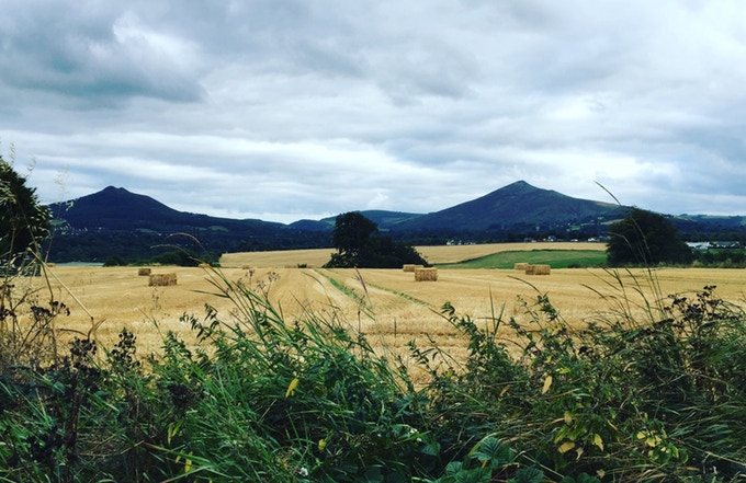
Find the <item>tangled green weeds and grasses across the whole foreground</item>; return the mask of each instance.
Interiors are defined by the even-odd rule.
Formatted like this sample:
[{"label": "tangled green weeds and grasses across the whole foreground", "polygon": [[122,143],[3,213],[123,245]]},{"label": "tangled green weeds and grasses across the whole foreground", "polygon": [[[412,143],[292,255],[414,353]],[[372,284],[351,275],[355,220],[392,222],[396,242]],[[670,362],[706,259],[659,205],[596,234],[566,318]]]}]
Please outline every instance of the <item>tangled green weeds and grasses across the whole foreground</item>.
[{"label": "tangled green weeds and grasses across the whole foreground", "polygon": [[[3,294],[0,481],[539,482],[742,481],[746,314],[714,287],[624,300],[573,330],[536,292],[530,323],[485,324],[449,303],[454,359],[409,344],[429,375],[374,349],[334,312],[287,322],[268,285],[214,274],[216,297],[166,332],[57,346],[65,310]],[[614,273],[612,280],[621,280]],[[635,287],[626,287],[635,290]],[[156,322],[154,322],[156,323]],[[156,323],[157,325],[157,323]],[[510,336],[498,337],[509,329]]]}]

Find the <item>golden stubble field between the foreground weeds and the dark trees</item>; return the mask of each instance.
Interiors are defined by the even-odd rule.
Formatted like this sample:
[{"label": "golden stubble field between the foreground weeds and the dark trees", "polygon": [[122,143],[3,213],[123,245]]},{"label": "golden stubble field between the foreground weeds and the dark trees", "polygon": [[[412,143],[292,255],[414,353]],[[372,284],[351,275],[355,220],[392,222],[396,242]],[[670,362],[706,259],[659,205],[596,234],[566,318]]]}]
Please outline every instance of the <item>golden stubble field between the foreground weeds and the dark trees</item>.
[{"label": "golden stubble field between the foreground weeds and the dark trees", "polygon": [[[604,249],[596,243],[566,245],[521,243],[418,250],[431,263],[445,263],[501,250]],[[600,268],[572,268],[553,269],[549,276],[527,276],[509,269],[441,269],[438,281],[416,281],[411,273],[402,269],[321,268],[330,253],[331,250],[309,250],[226,254],[221,260],[219,276],[213,268],[152,267],[152,273],[177,274],[178,284],[171,287],[149,287],[148,277],[138,276],[137,267],[56,266],[49,268],[49,283],[54,297],[71,310],[69,317],[59,319],[59,327],[87,332],[92,322],[100,322],[95,335],[103,344],[115,342],[122,327],[127,327],[138,337],[140,355],[157,352],[160,333],[166,331],[190,341],[189,327],[179,319],[184,313],[202,317],[206,303],[229,320],[231,302],[214,295],[217,290],[213,283],[219,284],[221,277],[252,287],[259,284],[289,322],[313,310],[341,318],[352,330],[365,332],[376,347],[402,353],[408,341],[423,345],[426,335],[430,335],[456,357],[464,354],[464,341],[455,337],[440,317],[444,302],[484,323],[494,313],[528,323],[530,318],[520,300],[531,303],[539,294],[546,294],[570,325],[581,327],[591,320],[610,317],[609,312],[619,308],[614,300],[629,299],[632,310],[636,310],[635,304],[642,301],[640,291],[654,301],[657,295],[693,294],[705,285],[716,285],[720,298],[736,303],[745,299],[746,272],[739,269],[660,268],[613,275]],[[299,264],[306,267],[298,268]],[[26,278],[24,283],[32,284],[41,299],[48,297],[44,277]],[[339,286],[346,288],[340,290]]]}]

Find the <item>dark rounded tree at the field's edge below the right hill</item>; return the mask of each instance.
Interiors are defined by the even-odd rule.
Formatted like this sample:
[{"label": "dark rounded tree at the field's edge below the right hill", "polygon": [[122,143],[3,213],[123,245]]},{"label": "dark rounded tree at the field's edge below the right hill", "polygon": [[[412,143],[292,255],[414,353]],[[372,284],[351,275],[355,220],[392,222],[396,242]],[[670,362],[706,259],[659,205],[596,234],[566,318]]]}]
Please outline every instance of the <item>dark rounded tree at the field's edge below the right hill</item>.
[{"label": "dark rounded tree at the field's edge below the right hill", "polygon": [[670,220],[640,208],[609,227],[607,255],[611,266],[688,264],[693,258]]}]

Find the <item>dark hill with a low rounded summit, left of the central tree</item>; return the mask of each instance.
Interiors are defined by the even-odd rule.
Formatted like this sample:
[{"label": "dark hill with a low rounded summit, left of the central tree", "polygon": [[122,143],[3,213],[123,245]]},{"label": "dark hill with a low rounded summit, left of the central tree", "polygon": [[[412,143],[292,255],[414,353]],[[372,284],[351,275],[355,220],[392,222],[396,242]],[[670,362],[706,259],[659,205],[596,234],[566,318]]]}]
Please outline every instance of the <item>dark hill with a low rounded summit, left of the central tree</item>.
[{"label": "dark hill with a low rounded summit, left of the central tree", "polygon": [[48,250],[56,262],[103,262],[111,255],[148,258],[179,246],[196,253],[223,253],[329,245],[326,232],[178,211],[122,187],[108,186],[49,205],[49,210],[55,235]]}]

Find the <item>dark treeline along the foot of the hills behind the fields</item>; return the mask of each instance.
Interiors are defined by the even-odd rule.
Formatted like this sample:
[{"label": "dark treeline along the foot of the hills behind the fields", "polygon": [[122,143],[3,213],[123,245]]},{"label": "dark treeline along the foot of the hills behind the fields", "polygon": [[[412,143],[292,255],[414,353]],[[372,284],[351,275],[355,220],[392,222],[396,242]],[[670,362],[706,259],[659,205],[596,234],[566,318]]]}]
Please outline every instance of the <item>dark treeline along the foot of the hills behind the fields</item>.
[{"label": "dark treeline along the foot of the hills behind the fields", "polygon": [[[678,222],[670,218],[660,217],[659,220],[670,221],[675,227]],[[683,228],[683,229],[681,229]],[[704,229],[703,223],[687,223],[678,229],[678,238],[686,241],[734,241],[742,246],[746,245],[746,227],[738,231],[734,227],[728,230],[720,230],[716,226]],[[723,228],[723,227],[720,227]],[[189,230],[189,237],[196,240],[187,242],[177,233],[159,233],[154,231],[84,231],[77,233],[55,232],[44,244],[44,253],[48,260],[65,262],[99,262],[104,263],[110,258],[124,261],[127,264],[136,264],[150,261],[165,252],[170,252],[174,246],[193,252],[199,257],[207,254],[219,257],[222,253],[230,252],[257,252],[274,250],[303,250],[319,249],[334,245],[332,231],[306,231],[306,230],[273,230],[258,232],[255,235],[246,233],[233,233],[230,231],[196,229]],[[467,243],[510,243],[522,242],[527,239],[546,240],[579,240],[600,239],[609,235],[609,226],[584,227],[583,229],[542,229],[535,227],[512,227],[509,230],[487,231],[457,231],[457,230],[420,230],[416,232],[399,232],[382,230],[381,235],[391,239],[396,245],[444,245],[452,240]],[[168,246],[173,245],[173,246]],[[743,253],[737,251],[708,250],[694,252],[691,260],[700,266],[744,266]]]}]

